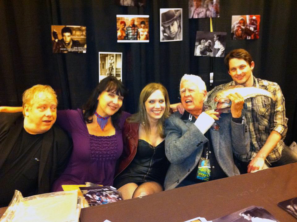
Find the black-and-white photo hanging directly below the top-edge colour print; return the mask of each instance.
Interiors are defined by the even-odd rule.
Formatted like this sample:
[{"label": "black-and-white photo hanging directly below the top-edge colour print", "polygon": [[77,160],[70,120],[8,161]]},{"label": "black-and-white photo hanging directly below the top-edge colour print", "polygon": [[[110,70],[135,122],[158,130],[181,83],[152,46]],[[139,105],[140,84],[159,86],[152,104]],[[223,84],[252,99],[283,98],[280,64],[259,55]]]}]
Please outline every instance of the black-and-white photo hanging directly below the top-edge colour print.
[{"label": "black-and-white photo hanging directly below the top-edge colour print", "polygon": [[226,32],[196,32],[194,56],[224,57]]}]

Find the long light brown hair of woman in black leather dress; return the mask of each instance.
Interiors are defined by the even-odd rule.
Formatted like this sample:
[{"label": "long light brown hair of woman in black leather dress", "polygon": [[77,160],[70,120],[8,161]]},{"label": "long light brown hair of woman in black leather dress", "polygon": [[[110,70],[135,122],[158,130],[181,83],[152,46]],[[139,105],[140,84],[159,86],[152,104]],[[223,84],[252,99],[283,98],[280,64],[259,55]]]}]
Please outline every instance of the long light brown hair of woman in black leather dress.
[{"label": "long light brown hair of woman in black leather dress", "polygon": [[129,117],[127,121],[141,123],[144,127],[144,131],[146,135],[149,135],[151,130],[150,130],[149,119],[147,117],[144,103],[149,98],[149,96],[152,95],[152,93],[156,90],[160,90],[165,98],[165,105],[166,105],[165,111],[163,116],[157,122],[158,133],[161,136],[161,138],[164,138],[165,135],[163,131],[163,125],[164,125],[165,119],[169,117],[170,102],[169,102],[169,96],[166,88],[160,83],[152,82],[146,85],[142,89],[139,96],[138,112],[133,114],[131,117]]}]

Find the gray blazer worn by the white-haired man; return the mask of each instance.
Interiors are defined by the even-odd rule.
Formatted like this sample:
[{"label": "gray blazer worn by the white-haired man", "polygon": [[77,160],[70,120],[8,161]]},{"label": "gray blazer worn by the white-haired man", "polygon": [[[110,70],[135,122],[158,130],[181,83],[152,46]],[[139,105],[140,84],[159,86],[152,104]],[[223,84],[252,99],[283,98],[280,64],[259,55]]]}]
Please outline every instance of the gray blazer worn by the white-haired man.
[{"label": "gray blazer worn by the white-haired man", "polygon": [[[165,152],[170,166],[166,174],[165,190],[175,188],[195,168],[208,139],[190,120],[182,120],[179,112],[165,121]],[[216,121],[220,129],[210,130],[213,150],[219,165],[228,176],[239,175],[233,153],[243,155],[250,148],[249,132],[245,121],[231,121],[230,113],[222,113]]]}]

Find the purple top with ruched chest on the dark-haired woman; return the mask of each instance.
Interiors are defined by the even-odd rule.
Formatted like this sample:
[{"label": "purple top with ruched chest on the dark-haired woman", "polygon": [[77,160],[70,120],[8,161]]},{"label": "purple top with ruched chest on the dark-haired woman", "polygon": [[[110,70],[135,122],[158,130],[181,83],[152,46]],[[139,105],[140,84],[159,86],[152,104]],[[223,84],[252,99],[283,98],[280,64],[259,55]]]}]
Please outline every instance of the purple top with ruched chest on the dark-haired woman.
[{"label": "purple top with ruched chest on the dark-haired woman", "polygon": [[122,129],[130,114],[122,112],[120,130],[115,135],[95,136],[88,133],[81,109],[60,110],[57,123],[72,137],[73,151],[62,175],[53,184],[52,191],[63,190],[62,184],[91,182],[104,186],[112,185],[115,165],[123,151]]}]

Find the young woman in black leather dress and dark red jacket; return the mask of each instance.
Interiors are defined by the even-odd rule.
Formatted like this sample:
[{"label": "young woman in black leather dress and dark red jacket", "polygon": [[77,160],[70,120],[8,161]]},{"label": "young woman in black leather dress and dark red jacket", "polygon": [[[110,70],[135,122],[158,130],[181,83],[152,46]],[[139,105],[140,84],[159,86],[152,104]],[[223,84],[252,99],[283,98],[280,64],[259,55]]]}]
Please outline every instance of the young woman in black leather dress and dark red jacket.
[{"label": "young woman in black leather dress and dark red jacket", "polygon": [[123,199],[161,192],[169,162],[165,155],[164,121],[170,109],[167,90],[159,83],[140,93],[138,113],[123,129],[123,154],[114,186]]}]

